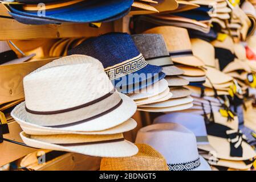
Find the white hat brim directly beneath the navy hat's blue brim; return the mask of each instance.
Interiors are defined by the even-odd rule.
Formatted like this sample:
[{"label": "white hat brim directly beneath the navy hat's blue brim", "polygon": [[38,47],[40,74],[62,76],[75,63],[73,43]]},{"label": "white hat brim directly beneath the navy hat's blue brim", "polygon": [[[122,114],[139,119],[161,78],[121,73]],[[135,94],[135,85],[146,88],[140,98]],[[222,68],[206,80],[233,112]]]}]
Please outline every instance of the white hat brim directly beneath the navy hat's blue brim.
[{"label": "white hat brim directly beneath the navy hat's blue brim", "polygon": [[162,79],[153,85],[138,90],[138,93],[127,94],[132,100],[141,100],[149,97],[156,96],[168,89],[168,82]]}]

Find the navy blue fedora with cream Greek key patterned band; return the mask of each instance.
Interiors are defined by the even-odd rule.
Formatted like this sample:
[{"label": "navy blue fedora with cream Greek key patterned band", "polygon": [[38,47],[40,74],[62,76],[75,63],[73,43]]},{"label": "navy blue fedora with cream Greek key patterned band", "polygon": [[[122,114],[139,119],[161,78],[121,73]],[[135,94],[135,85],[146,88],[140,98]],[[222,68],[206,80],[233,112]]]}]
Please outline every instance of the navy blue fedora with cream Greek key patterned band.
[{"label": "navy blue fedora with cream Greek key patterned band", "polygon": [[150,65],[127,33],[109,33],[90,38],[68,51],[88,55],[103,64],[109,79],[121,93],[131,93],[164,78],[162,68]]}]

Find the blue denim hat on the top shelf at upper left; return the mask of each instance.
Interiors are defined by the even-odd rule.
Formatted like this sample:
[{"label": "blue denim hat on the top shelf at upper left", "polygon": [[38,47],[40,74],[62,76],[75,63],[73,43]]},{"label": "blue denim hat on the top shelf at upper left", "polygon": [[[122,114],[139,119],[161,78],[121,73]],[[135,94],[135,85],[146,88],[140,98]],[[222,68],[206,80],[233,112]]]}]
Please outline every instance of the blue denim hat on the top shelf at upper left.
[{"label": "blue denim hat on the top shelf at upper left", "polygon": [[82,1],[75,5],[60,7],[60,9],[46,10],[44,16],[37,13],[25,11],[22,5],[9,5],[13,14],[30,16],[31,18],[41,18],[55,20],[59,22],[89,23],[101,22],[110,19],[121,13],[127,13],[131,9],[133,0],[94,0]]}]

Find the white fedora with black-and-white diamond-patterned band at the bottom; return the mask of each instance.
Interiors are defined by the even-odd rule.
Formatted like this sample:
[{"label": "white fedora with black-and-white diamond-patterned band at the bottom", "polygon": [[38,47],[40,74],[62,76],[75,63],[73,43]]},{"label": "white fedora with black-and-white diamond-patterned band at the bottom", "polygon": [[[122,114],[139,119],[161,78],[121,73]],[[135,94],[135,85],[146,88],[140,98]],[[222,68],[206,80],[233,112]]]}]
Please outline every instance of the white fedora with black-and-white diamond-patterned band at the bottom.
[{"label": "white fedora with black-and-white diamond-patterned band at the bottom", "polygon": [[145,143],[162,154],[169,171],[211,171],[198,154],[192,131],[177,123],[160,123],[139,130],[136,143]]}]

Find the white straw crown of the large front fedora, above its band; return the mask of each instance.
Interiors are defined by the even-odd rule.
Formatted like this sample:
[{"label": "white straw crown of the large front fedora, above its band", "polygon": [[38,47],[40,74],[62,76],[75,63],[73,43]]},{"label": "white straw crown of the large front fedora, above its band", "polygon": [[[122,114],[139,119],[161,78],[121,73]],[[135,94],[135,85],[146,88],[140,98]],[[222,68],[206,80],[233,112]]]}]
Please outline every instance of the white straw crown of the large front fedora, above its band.
[{"label": "white straw crown of the large front fedora, above its band", "polygon": [[23,79],[26,107],[56,111],[87,104],[113,90],[102,64],[90,56],[54,60]]}]

